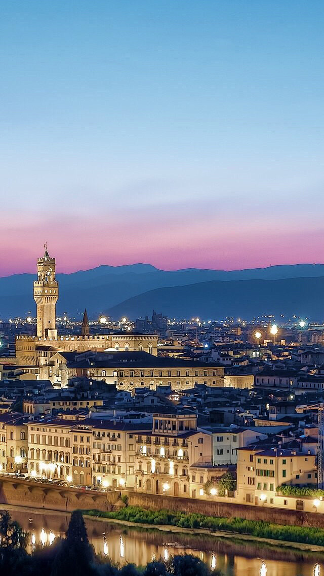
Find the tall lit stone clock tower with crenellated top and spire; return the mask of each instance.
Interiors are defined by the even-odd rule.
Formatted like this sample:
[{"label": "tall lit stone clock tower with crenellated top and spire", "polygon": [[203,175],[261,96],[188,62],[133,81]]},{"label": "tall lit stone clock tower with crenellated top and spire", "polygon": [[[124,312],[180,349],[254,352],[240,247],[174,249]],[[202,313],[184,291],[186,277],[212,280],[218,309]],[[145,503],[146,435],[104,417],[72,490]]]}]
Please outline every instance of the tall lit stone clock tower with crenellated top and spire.
[{"label": "tall lit stone clock tower with crenellated top and spire", "polygon": [[43,258],[37,258],[37,280],[34,282],[34,300],[37,304],[37,336],[56,338],[55,304],[59,285],[55,279],[55,258],[50,258],[47,244]]}]

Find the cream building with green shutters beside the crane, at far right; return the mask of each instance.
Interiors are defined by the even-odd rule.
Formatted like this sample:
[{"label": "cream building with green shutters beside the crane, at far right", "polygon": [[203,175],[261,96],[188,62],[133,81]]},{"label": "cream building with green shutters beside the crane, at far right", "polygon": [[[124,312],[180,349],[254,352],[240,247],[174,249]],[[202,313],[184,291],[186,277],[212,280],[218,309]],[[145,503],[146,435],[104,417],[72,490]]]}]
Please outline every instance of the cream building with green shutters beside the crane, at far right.
[{"label": "cream building with green shutters beside the crane, at far right", "polygon": [[282,484],[317,484],[315,456],[280,448],[238,450],[239,503],[279,505],[276,490]]}]

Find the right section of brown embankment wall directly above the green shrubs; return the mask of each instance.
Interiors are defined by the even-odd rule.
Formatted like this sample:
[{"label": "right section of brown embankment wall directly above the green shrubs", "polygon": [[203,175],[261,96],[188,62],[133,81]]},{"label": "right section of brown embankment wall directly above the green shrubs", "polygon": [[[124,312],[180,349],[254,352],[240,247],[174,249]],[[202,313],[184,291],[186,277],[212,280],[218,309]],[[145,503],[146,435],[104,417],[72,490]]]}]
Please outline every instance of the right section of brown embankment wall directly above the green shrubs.
[{"label": "right section of brown embankment wall directly above the green shrubs", "polygon": [[314,526],[324,528],[324,514],[299,510],[286,510],[266,506],[249,506],[226,502],[204,501],[192,498],[176,498],[156,494],[142,494],[127,490],[130,506],[141,506],[147,510],[171,510],[174,512],[191,512],[219,518],[243,518],[244,520],[272,522],[283,526]]}]

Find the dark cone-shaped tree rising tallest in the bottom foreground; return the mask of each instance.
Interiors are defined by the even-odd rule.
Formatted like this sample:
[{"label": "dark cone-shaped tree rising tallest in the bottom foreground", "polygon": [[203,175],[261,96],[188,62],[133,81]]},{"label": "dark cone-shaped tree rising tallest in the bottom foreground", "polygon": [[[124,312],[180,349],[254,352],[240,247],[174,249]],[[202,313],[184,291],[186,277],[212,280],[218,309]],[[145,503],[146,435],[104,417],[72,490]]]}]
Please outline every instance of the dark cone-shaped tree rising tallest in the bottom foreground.
[{"label": "dark cone-shaped tree rising tallest in the bottom foreground", "polygon": [[94,573],[94,550],[89,543],[85,521],[80,510],[71,514],[66,539],[52,568],[52,576],[91,576]]}]

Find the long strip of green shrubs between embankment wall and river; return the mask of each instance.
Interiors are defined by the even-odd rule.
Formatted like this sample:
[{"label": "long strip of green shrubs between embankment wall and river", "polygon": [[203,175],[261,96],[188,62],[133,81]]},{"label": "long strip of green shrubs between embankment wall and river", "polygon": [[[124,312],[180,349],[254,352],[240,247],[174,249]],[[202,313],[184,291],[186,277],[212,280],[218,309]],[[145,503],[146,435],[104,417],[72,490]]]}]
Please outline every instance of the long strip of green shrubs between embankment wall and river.
[{"label": "long strip of green shrubs between embankment wall and river", "polygon": [[280,526],[270,522],[255,522],[242,518],[214,518],[201,514],[185,514],[168,510],[151,511],[137,506],[126,506],[113,512],[99,510],[82,510],[88,516],[113,518],[115,520],[134,522],[135,524],[169,525],[179,528],[207,528],[226,530],[237,534],[247,534],[260,538],[300,542],[324,546],[324,529],[300,526]]}]

